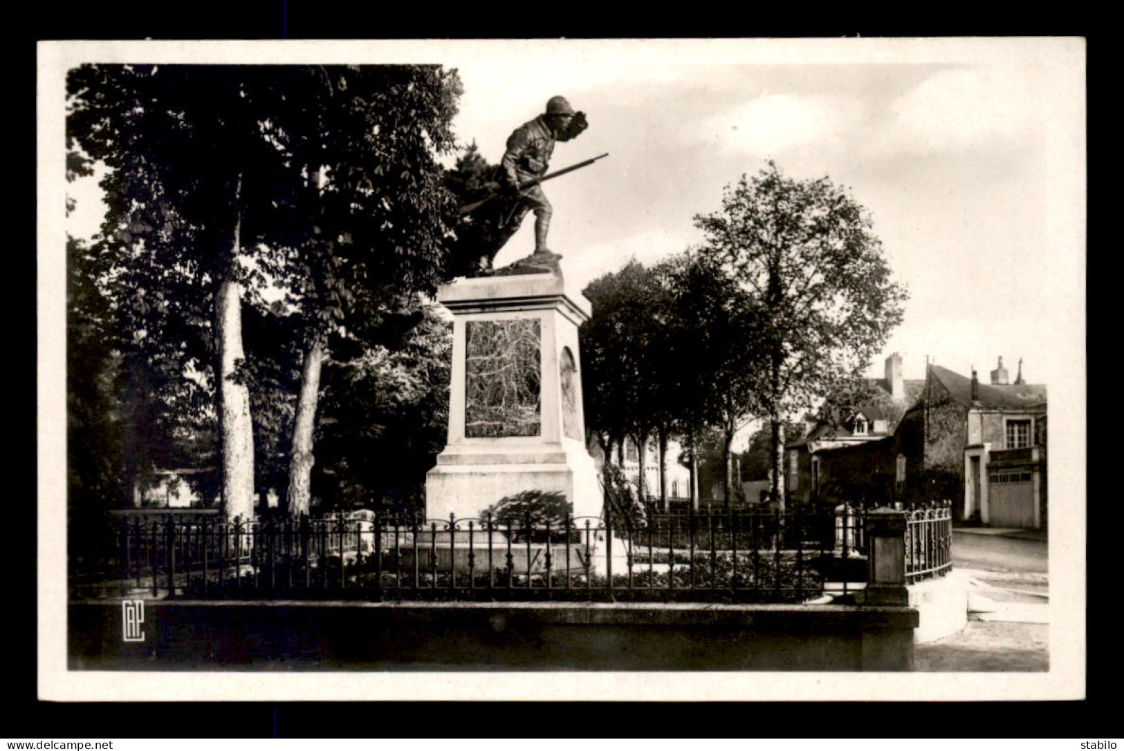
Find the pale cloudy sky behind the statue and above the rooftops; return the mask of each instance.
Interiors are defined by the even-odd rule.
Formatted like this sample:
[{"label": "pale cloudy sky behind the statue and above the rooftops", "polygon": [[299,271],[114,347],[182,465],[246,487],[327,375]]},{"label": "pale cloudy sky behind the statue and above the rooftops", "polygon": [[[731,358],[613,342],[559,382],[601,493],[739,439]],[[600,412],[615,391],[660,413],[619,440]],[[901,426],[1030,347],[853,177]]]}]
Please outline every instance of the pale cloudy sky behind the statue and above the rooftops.
[{"label": "pale cloudy sky behind the statue and above the rooftops", "polygon": [[[334,45],[334,46],[333,46]],[[196,51],[207,59],[264,52]],[[1073,39],[492,40],[320,43],[291,62],[438,62],[464,85],[454,130],[489,162],[507,136],[562,94],[589,129],[551,168],[609,156],[547,183],[550,247],[577,289],[632,258],[703,240],[694,217],[768,159],[827,176],[873,220],[905,321],[871,364],[900,352],[981,378],[1023,359],[1059,383],[1084,358],[1084,63]],[[176,51],[169,53],[180,59]],[[191,58],[188,54],[188,58]],[[273,53],[271,53],[273,54]],[[187,62],[187,61],[185,61]],[[79,189],[82,190],[82,189]],[[97,223],[80,201],[74,225]],[[533,218],[496,257],[534,246]],[[1080,347],[1075,347],[1080,342]],[[1080,365],[1084,368],[1084,360]]]}]

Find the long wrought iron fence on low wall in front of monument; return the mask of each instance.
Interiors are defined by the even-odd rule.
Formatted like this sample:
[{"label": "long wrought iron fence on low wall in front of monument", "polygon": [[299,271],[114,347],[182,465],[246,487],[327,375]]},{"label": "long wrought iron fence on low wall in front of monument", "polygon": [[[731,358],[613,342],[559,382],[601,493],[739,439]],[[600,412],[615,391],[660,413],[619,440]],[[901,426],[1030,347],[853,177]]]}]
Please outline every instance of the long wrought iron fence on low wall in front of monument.
[{"label": "long wrought iron fence on low wall in front of monument", "polygon": [[133,519],[110,534],[112,552],[72,577],[76,596],[806,602],[825,581],[845,592],[865,571],[861,514],[800,510],[509,523],[370,511]]}]

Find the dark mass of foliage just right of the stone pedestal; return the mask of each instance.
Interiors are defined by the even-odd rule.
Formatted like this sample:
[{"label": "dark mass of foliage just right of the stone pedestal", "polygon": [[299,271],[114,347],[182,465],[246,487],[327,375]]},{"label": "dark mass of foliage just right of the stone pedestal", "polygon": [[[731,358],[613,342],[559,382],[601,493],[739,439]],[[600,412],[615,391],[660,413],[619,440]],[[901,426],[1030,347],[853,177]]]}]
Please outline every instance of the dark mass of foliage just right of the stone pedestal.
[{"label": "dark mass of foliage just right of the stone pedestal", "polygon": [[586,295],[593,303],[581,328],[586,418],[602,448],[626,436],[699,439],[714,427],[728,454],[756,404],[753,299],[692,253],[653,268],[633,260]]}]

